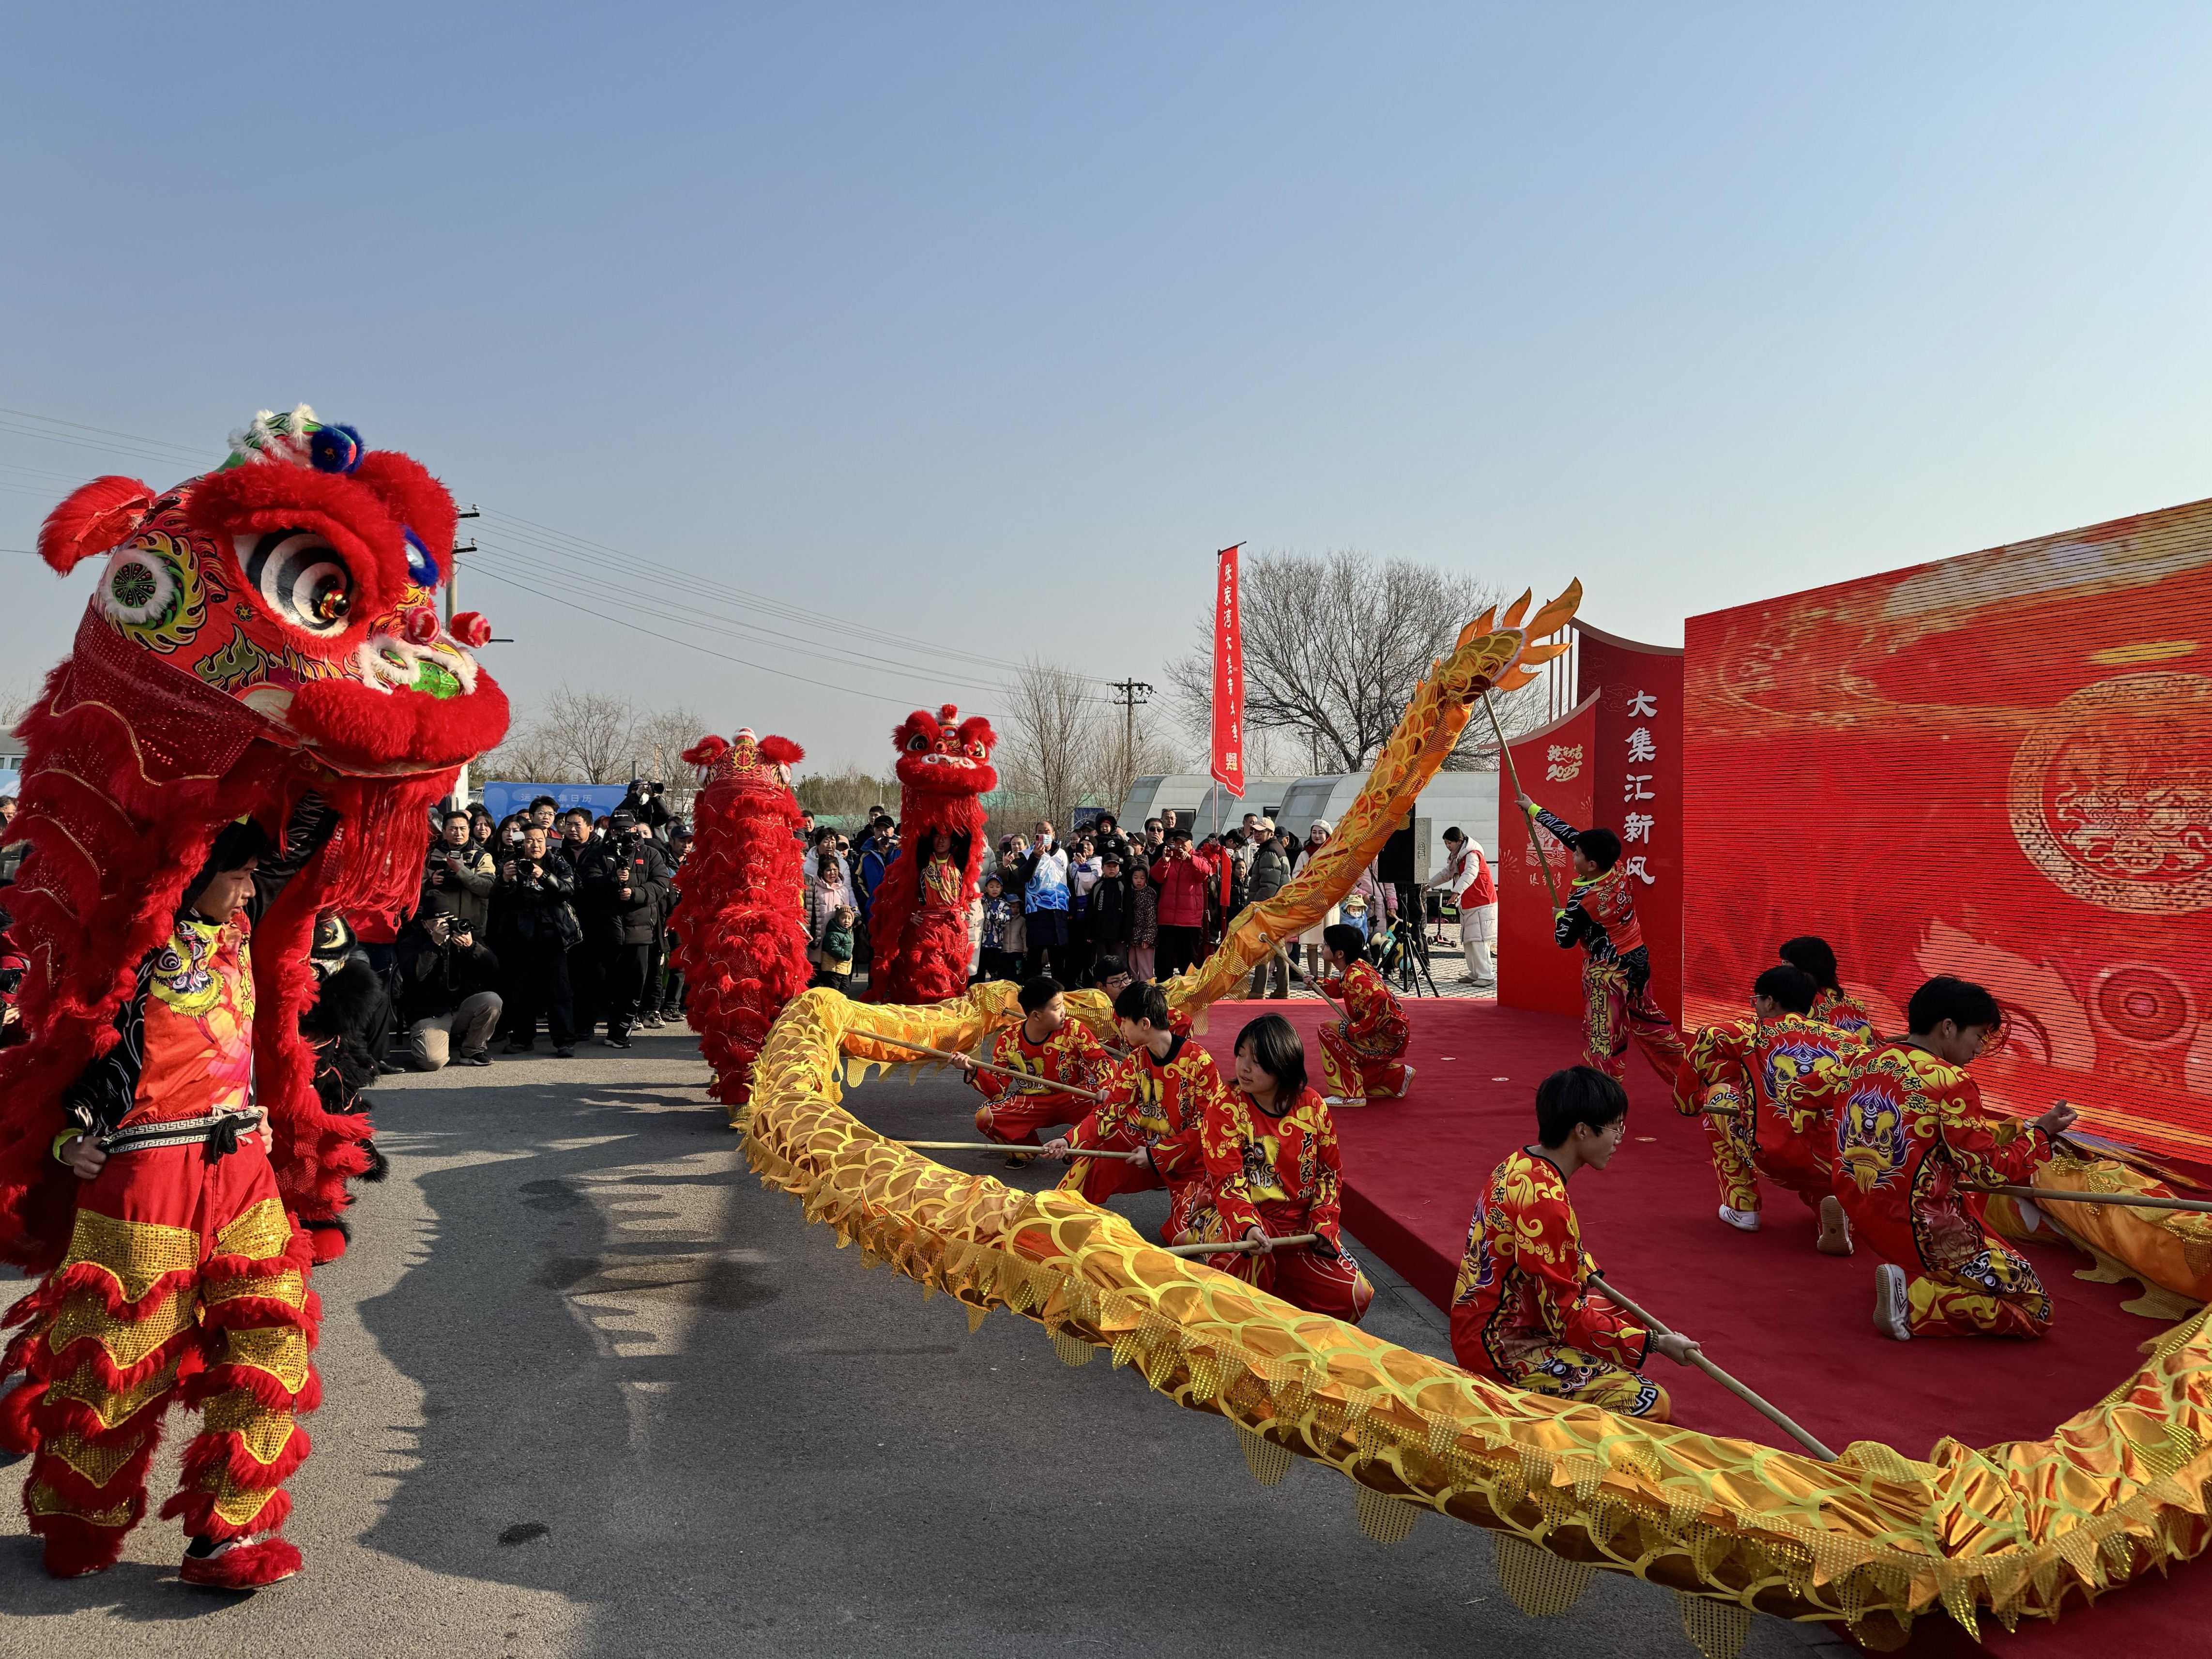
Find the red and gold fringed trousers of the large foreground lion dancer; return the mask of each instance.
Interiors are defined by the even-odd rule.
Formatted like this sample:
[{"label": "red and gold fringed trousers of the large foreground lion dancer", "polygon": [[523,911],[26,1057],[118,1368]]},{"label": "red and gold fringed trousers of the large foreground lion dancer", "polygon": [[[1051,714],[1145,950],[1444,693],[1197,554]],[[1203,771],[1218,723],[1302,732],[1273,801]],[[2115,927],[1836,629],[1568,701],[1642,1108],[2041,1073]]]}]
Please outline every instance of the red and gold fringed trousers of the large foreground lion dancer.
[{"label": "red and gold fringed trousers of the large foreground lion dancer", "polygon": [[312,1256],[259,1141],[119,1152],[82,1183],[69,1254],[9,1312],[27,1329],[0,1365],[29,1374],[0,1422],[35,1451],[22,1504],[49,1573],[117,1559],[179,1394],[201,1425],[161,1515],[215,1540],[283,1524],[307,1455],[294,1418],[321,1398]]}]

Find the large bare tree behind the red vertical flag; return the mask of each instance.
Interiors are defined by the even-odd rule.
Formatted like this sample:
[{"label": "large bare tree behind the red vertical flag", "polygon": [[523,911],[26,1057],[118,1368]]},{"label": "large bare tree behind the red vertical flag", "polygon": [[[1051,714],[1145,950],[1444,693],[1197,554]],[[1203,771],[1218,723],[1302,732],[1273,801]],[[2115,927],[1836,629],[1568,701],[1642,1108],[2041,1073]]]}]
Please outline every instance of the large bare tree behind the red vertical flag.
[{"label": "large bare tree behind the red vertical flag", "polygon": [[[1420,677],[1500,597],[1467,575],[1349,551],[1259,553],[1241,577],[1245,730],[1292,739],[1296,763],[1316,772],[1365,770]],[[1212,726],[1210,613],[1199,617],[1199,639],[1168,664],[1177,717],[1194,739]],[[1533,723],[1526,699],[1502,699],[1498,714],[1509,734]],[[1447,765],[1495,763],[1489,719],[1469,721]]]}]

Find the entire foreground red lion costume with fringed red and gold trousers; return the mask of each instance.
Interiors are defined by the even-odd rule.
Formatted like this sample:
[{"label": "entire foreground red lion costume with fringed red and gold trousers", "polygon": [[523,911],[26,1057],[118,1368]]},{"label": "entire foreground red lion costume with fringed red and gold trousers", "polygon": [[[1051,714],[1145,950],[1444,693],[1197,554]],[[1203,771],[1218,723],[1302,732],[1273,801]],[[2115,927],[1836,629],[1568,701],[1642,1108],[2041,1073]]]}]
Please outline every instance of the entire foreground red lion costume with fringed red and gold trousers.
[{"label": "entire foreground red lion costume with fringed red and gold trousers", "polygon": [[[416,902],[427,807],[507,730],[469,655],[489,624],[438,622],[445,487],[305,405],[232,451],[168,491],[97,478],[40,531],[55,571],[106,560],[18,728],[9,830],[29,1040],[0,1055],[0,1252],[42,1279],[9,1314],[0,1374],[29,1380],[0,1438],[35,1451],[24,1509],[55,1575],[117,1559],[179,1394],[201,1411],[161,1509],[192,1540],[181,1577],[299,1571],[276,1528],[321,1396],[307,1272],[345,1248],[369,1164],[367,1119],[316,1097],[307,942],[321,911]],[[206,916],[195,876],[243,867],[210,847],[259,841],[239,818],[281,891]],[[248,1102],[270,1150],[237,1133]],[[71,1141],[106,1152],[97,1177],[58,1161]]]}]

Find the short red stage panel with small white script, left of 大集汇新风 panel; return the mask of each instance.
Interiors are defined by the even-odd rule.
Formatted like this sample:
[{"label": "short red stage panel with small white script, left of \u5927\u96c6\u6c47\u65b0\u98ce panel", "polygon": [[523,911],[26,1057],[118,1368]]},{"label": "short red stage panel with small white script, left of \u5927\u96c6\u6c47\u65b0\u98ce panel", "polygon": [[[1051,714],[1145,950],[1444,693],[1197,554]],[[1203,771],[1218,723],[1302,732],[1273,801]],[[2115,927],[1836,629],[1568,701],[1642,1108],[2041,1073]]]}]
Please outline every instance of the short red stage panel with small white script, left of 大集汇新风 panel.
[{"label": "short red stage panel with small white script, left of \u5927\u96c6\u6c47\u65b0\u98ce panel", "polygon": [[[1528,799],[1566,818],[1577,830],[1597,821],[1595,785],[1597,699],[1586,697],[1571,714],[1513,739],[1513,770]],[[1573,891],[1575,867],[1557,841],[1537,830],[1513,801],[1513,774],[1498,787],[1498,1000],[1511,1009],[1582,1015],[1582,949],[1562,951],[1553,942],[1553,891]],[[1553,885],[1544,885],[1551,865]]]}]

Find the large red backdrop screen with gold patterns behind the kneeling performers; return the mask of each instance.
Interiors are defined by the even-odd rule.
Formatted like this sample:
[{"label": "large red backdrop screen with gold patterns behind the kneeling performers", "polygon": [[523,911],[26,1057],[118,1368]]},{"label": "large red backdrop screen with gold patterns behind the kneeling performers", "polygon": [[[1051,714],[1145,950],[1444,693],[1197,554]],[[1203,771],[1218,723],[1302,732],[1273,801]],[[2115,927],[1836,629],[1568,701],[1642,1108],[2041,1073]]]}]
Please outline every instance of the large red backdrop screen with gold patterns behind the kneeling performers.
[{"label": "large red backdrop screen with gold patterns behind the kneeling performers", "polygon": [[2212,1155],[2212,502],[1692,617],[1686,732],[1690,1022],[1823,933],[1885,1033],[1995,991],[2013,1110]]}]

